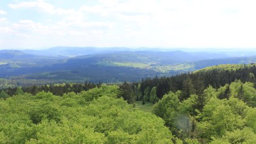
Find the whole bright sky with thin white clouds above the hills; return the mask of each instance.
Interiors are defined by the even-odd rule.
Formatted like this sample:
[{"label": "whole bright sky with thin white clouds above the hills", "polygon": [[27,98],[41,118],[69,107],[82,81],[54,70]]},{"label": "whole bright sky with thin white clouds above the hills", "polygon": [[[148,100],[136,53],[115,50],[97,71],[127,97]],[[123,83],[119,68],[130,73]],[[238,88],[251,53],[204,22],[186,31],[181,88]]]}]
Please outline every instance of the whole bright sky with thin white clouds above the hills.
[{"label": "whole bright sky with thin white clouds above the hills", "polygon": [[255,0],[0,0],[0,49],[256,49]]}]

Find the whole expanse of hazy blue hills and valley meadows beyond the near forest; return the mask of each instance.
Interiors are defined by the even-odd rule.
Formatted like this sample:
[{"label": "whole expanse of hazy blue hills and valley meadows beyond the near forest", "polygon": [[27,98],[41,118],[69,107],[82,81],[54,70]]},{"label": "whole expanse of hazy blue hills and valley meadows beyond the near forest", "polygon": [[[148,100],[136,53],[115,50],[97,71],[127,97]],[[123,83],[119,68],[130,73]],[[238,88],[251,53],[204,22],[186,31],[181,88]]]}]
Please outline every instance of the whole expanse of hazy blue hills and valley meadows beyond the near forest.
[{"label": "whole expanse of hazy blue hills and valley meadows beyond the near forest", "polygon": [[[237,54],[234,52],[233,54]],[[253,53],[252,53],[253,54]],[[242,54],[244,55],[244,53]],[[256,54],[255,54],[256,55]],[[29,81],[116,83],[173,76],[221,64],[256,62],[228,52],[185,52],[127,47],[52,47],[0,51],[0,78]]]}]

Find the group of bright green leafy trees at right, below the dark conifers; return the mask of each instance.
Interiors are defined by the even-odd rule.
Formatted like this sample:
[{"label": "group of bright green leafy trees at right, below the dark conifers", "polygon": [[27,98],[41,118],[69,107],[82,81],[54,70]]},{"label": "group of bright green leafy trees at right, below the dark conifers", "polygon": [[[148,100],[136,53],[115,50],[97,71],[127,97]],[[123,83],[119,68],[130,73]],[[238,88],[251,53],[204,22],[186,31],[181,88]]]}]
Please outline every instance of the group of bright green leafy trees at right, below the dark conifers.
[{"label": "group of bright green leafy trees at right, below the dark conifers", "polygon": [[180,100],[180,92],[168,93],[153,112],[163,118],[184,143],[255,143],[256,110],[253,83],[236,81],[218,90]]}]

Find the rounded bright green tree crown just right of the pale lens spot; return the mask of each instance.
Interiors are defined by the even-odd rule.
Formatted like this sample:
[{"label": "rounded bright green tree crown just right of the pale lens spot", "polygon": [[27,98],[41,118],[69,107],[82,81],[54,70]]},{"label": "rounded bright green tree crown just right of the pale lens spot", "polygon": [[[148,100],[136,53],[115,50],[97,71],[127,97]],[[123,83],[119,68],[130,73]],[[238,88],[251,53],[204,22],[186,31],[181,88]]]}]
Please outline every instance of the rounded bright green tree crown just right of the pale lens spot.
[{"label": "rounded bright green tree crown just right of the pale lens spot", "polygon": [[[232,100],[235,102],[235,100]],[[197,131],[199,135],[210,139],[211,136],[223,136],[226,131],[234,131],[235,129],[241,129],[244,126],[244,120],[239,111],[234,109],[239,104],[228,105],[232,102],[227,102],[226,99],[219,100],[212,98],[204,107],[203,113],[199,115],[202,122],[198,123]]]}]

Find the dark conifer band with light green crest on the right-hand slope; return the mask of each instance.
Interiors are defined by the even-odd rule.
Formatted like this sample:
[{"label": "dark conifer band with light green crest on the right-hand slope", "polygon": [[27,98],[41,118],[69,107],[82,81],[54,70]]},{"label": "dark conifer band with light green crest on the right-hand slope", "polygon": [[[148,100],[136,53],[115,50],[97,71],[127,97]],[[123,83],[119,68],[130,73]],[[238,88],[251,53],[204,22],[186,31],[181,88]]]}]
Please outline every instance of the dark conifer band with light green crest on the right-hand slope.
[{"label": "dark conifer band with light green crest on the right-hand slope", "polygon": [[205,88],[211,85],[213,88],[220,88],[225,84],[230,84],[236,80],[255,83],[256,65],[218,65],[207,67],[188,74],[178,74],[172,77],[155,77],[154,79],[144,79],[139,83],[133,83],[135,91],[145,95],[156,87],[156,94],[159,99],[164,94],[177,90],[182,91],[182,99],[189,97],[191,93],[201,94]]}]

